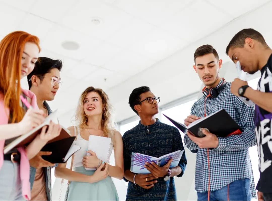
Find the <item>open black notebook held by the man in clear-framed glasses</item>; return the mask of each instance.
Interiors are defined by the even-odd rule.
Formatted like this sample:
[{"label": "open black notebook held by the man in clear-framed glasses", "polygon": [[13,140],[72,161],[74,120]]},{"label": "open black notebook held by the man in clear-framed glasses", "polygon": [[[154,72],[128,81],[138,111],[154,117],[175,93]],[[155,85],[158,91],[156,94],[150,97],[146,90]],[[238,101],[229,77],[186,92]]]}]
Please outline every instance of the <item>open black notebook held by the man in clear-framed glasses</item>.
[{"label": "open black notebook held by the man in clear-framed glasses", "polygon": [[81,149],[81,147],[77,145],[72,145],[74,139],[75,136],[46,144],[41,151],[51,151],[52,154],[42,156],[42,158],[50,163],[66,163],[74,153]]}]

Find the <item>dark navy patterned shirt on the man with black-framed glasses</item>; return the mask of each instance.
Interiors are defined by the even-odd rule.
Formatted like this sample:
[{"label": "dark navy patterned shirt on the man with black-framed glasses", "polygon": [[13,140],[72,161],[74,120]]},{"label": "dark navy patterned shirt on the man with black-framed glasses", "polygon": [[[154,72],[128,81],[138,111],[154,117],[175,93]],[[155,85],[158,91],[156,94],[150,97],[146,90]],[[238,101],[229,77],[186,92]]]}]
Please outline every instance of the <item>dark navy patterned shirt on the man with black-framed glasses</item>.
[{"label": "dark navy patterned shirt on the man with black-framed glasses", "polygon": [[[123,146],[125,171],[130,170],[132,152],[160,157],[177,150],[184,150],[178,129],[161,123],[158,119],[150,126],[144,126],[139,122],[137,126],[125,132]],[[186,164],[184,152],[178,164],[182,170],[178,177],[183,175]],[[125,178],[124,180],[127,181]],[[174,177],[168,181],[159,178],[150,189],[144,189],[129,182],[126,200],[177,200]]]}]

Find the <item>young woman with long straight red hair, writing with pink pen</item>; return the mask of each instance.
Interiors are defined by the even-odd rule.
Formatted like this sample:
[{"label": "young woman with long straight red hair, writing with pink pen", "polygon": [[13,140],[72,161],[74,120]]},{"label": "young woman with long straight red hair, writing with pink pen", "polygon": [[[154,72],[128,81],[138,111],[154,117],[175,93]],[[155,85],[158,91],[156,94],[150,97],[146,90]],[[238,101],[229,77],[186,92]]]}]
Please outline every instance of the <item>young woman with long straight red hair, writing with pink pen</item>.
[{"label": "young woman with long straight red hair, writing with pink pen", "polygon": [[[23,31],[12,32],[0,42],[0,200],[30,199],[29,159],[60,134],[60,126],[50,123],[29,145],[3,153],[6,145],[44,121],[36,96],[20,87],[20,79],[33,70],[39,52],[39,39]],[[32,107],[28,109],[20,96]]]}]

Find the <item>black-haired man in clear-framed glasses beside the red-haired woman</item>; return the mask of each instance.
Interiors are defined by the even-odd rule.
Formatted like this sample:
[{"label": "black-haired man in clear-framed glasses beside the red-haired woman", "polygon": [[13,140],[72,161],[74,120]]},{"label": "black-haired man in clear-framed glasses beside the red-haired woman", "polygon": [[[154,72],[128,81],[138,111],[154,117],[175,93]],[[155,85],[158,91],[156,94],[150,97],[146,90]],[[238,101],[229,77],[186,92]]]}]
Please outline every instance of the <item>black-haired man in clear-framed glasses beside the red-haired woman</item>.
[{"label": "black-haired man in clear-framed glasses beside the red-haired woman", "polygon": [[[33,71],[27,76],[29,90],[37,97],[39,109],[50,115],[50,109],[46,101],[52,101],[62,84],[60,80],[61,60],[53,60],[47,57],[39,57]],[[43,155],[50,152],[40,151],[30,163],[31,200],[51,200],[51,167],[55,166],[44,159]]]}]

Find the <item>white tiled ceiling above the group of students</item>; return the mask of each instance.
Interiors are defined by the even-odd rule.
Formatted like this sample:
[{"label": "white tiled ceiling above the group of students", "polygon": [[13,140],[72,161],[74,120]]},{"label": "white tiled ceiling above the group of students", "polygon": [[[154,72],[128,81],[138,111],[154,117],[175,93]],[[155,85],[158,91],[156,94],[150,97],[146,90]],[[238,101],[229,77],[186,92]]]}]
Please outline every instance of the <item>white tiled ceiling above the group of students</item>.
[{"label": "white tiled ceiling above the group of students", "polygon": [[[0,37],[19,29],[27,31],[40,38],[41,56],[63,60],[63,86],[50,103],[54,109],[59,108],[60,115],[74,109],[87,86],[106,90],[116,111],[129,111],[129,92],[134,87],[150,84],[150,80],[141,79],[147,69],[266,2],[268,0],[0,0]],[[92,17],[99,17],[102,23],[94,25]],[[80,47],[65,50],[61,46],[64,41],[75,41]],[[191,63],[192,55],[183,59]],[[171,86],[172,80],[178,77],[174,71],[172,76],[169,73],[163,76],[171,67],[170,63],[164,65],[161,72],[153,67],[150,79],[165,81]],[[187,68],[182,63],[178,66],[183,71]],[[188,72],[190,74],[193,72]],[[135,86],[129,84],[134,78]],[[25,81],[23,86],[27,86]],[[126,99],[120,96],[120,86],[127,89]],[[161,92],[160,96],[163,95]],[[131,115],[131,111],[122,115],[117,112],[116,120]]]}]

